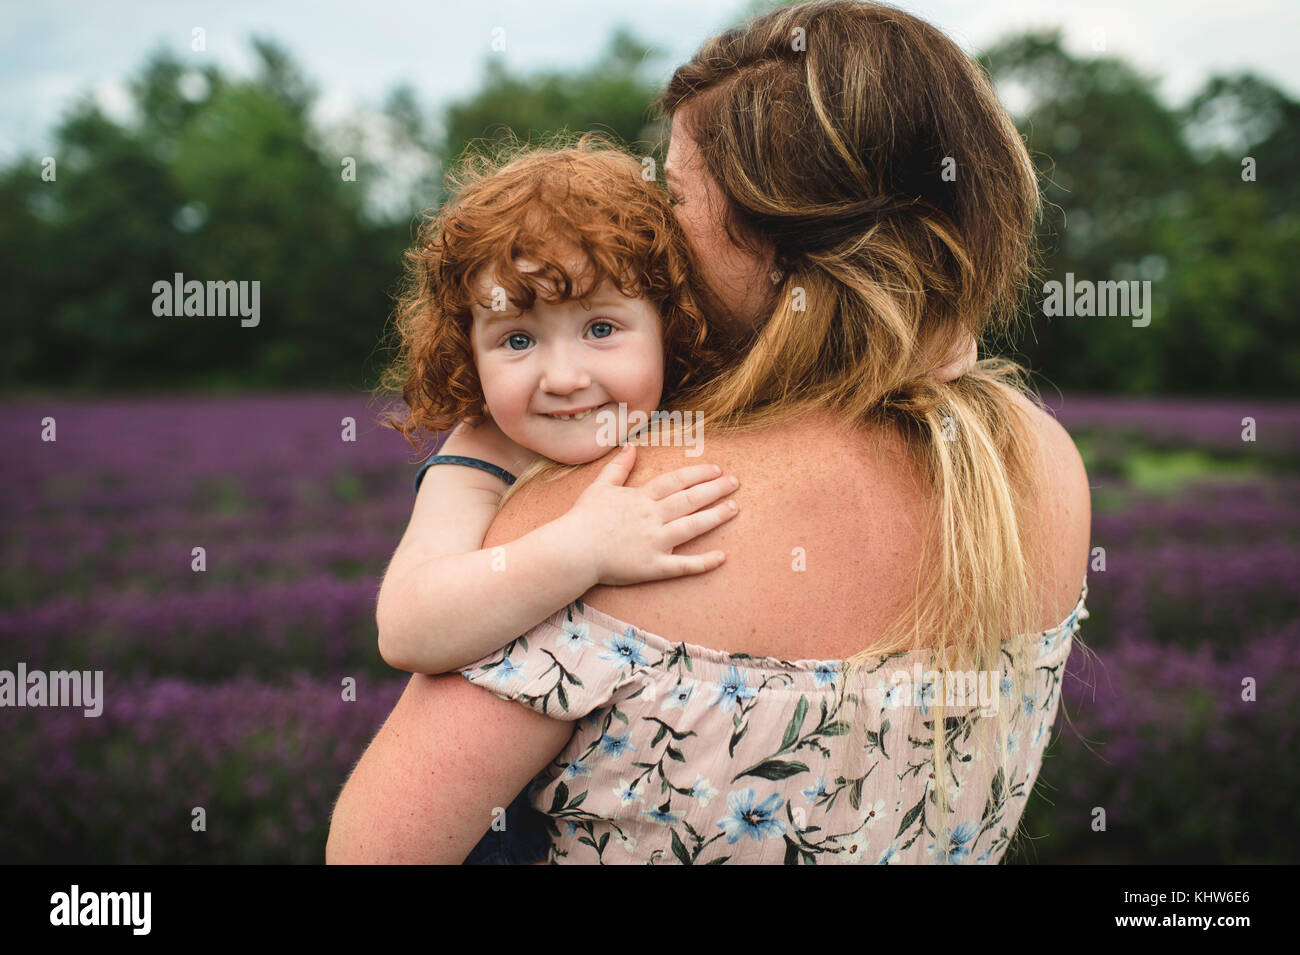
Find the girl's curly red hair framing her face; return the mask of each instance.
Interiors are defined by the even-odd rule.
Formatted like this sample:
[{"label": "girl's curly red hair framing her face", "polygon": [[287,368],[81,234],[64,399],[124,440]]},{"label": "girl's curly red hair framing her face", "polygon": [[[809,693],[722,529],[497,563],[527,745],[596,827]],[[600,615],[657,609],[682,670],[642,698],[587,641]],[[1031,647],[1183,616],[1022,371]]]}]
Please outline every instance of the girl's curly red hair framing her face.
[{"label": "girl's curly red hair framing her face", "polygon": [[[407,405],[384,424],[412,446],[420,448],[421,429],[448,431],[482,412],[469,338],[471,305],[491,308],[474,288],[482,274],[524,309],[543,282],[555,301],[582,300],[606,279],[646,299],[663,321],[666,408],[725,364],[725,346],[693,292],[698,273],[667,194],[610,140],[584,134],[567,147],[507,142],[490,153],[471,151],[447,185],[451,199],[421,221],[404,256],[398,356],[381,379]],[[564,266],[573,249],[586,260],[578,275]],[[537,262],[537,272],[520,272],[517,257]]]}]

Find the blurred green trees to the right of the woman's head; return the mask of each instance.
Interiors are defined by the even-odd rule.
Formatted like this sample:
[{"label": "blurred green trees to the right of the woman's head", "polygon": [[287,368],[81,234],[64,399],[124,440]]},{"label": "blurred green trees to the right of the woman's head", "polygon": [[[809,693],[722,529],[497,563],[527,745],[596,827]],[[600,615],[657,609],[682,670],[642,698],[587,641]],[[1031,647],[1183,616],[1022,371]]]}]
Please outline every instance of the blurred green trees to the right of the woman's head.
[{"label": "blurred green trees to the right of the woman's head", "polygon": [[[1046,200],[1041,281],[1152,283],[1145,327],[1048,318],[1040,285],[1013,347],[1067,390],[1295,395],[1297,204],[1280,170],[1296,156],[1296,104],[1257,78],[1213,78],[1186,109],[1167,109],[1153,79],[1071,56],[1060,31],[1010,38],[983,60],[1000,87],[1030,94],[1017,120]],[[1210,142],[1212,113],[1230,114],[1219,146],[1193,148]],[[1240,160],[1256,152],[1271,174],[1243,182]]]}]

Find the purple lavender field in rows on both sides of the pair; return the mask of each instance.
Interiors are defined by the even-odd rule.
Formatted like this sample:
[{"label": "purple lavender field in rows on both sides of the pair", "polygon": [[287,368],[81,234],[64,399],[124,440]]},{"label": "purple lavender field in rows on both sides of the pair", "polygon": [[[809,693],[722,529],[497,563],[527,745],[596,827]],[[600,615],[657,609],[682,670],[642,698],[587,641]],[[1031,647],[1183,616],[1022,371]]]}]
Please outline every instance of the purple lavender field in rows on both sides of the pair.
[{"label": "purple lavender field in rows on both sides of the pair", "polygon": [[[1091,617],[1009,861],[1295,861],[1300,407],[1050,403],[1093,485]],[[104,674],[101,716],[0,709],[0,863],[324,860],[406,682],[374,598],[419,456],[381,411],[0,408],[0,669]]]}]

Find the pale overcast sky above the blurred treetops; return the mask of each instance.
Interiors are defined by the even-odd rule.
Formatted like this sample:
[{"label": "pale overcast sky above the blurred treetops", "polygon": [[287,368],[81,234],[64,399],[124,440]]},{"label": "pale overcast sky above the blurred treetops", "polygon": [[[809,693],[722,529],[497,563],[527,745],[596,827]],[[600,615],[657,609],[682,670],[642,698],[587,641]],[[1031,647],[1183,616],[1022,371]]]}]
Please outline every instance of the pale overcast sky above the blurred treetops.
[{"label": "pale overcast sky above the blurred treetops", "polygon": [[[1095,44],[1161,78],[1182,101],[1216,71],[1254,69],[1300,95],[1300,4],[1243,0],[916,0],[896,4],[945,30],[968,52],[1030,26],[1061,26],[1070,49]],[[124,81],[148,52],[168,45],[182,57],[214,61],[247,75],[252,34],[286,45],[321,90],[317,118],[332,123],[374,109],[399,82],[425,105],[472,92],[489,56],[511,71],[576,68],[625,25],[663,48],[667,79],[708,35],[736,22],[744,0],[42,0],[0,4],[0,161],[20,149],[43,155],[48,131],[70,99],[94,91],[125,118]],[[190,51],[194,27],[207,51]],[[491,52],[494,30],[504,52]],[[497,34],[500,35],[500,34]],[[1014,104],[1009,103],[1013,107]]]}]

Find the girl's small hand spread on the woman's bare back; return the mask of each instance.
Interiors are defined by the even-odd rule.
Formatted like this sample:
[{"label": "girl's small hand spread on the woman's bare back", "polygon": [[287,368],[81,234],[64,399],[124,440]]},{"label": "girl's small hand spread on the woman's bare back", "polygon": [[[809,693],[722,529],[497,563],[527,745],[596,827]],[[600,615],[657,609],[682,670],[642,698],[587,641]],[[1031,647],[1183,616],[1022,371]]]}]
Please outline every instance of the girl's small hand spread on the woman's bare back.
[{"label": "girl's small hand spread on the woman's bare back", "polygon": [[560,518],[572,528],[575,547],[595,561],[598,582],[660,581],[722,564],[722,551],[685,555],[672,550],[734,517],[734,502],[702,508],[734,491],[740,482],[723,477],[711,464],[697,464],[640,487],[625,487],[636,459],[636,446],[624,444]]}]

